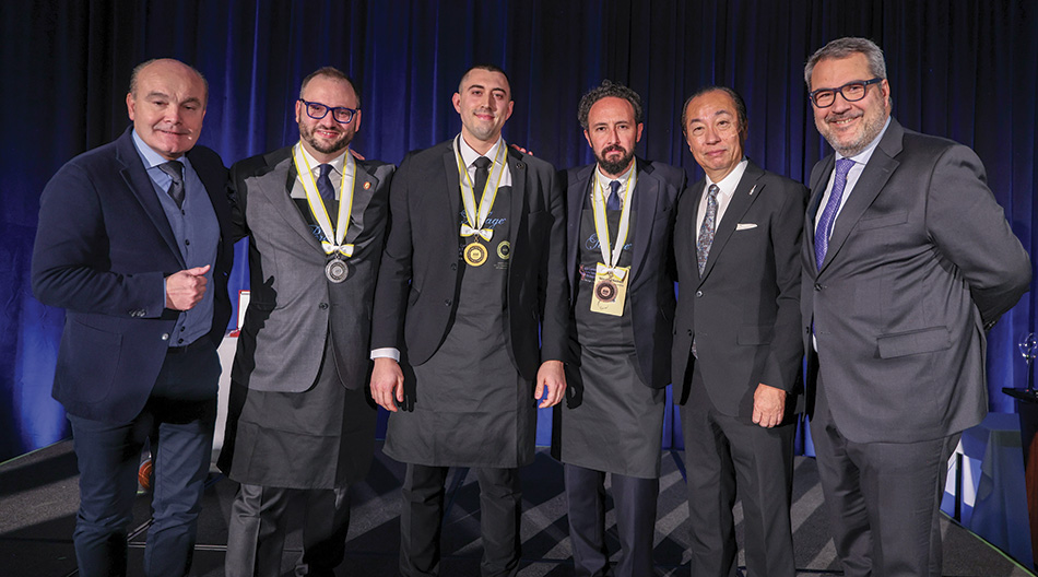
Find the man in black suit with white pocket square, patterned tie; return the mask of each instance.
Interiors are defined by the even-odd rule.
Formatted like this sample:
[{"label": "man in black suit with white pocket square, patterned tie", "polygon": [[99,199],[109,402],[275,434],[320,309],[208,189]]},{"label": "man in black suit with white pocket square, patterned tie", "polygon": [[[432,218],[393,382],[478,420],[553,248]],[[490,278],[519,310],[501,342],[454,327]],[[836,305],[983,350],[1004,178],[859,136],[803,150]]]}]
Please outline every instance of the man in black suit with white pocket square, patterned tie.
[{"label": "man in black suit with white pocket square, patterned tie", "polygon": [[792,577],[806,190],[744,156],[747,130],[746,106],[731,89],[703,89],[685,102],[682,131],[706,173],[682,198],[674,234],[673,375],[688,463],[692,574],[734,577],[738,486],[747,575]]}]

